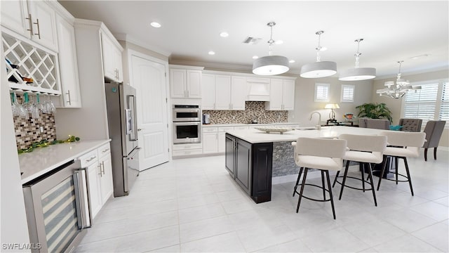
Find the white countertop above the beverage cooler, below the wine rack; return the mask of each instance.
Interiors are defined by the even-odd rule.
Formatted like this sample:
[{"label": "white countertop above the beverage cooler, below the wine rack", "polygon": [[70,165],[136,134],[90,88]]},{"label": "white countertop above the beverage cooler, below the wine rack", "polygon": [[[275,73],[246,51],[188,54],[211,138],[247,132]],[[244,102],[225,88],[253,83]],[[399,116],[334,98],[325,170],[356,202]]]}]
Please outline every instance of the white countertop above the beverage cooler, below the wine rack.
[{"label": "white countertop above the beverage cooler, below the wine rack", "polygon": [[74,160],[84,153],[88,153],[111,140],[76,141],[72,143],[59,143],[46,148],[35,148],[31,153],[19,155],[22,183],[46,174],[56,167]]}]

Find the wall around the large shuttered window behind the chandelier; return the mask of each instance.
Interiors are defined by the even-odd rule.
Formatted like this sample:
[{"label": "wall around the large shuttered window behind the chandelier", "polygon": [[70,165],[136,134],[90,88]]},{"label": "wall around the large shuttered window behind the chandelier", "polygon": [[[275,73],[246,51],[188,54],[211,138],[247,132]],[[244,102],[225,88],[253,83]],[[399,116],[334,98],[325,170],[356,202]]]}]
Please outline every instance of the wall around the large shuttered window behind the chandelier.
[{"label": "wall around the large shuttered window behind the chandelier", "polygon": [[[428,80],[438,80],[438,79],[448,79],[449,78],[449,72],[448,70],[440,70],[435,72],[427,72],[422,74],[404,74],[402,73],[402,77],[410,80],[410,82],[422,82],[422,81],[428,81]],[[373,91],[371,93],[373,94],[372,100],[374,103],[385,103],[387,104],[388,108],[392,112],[393,116],[393,123],[392,124],[398,124],[399,119],[401,119],[401,110],[402,110],[402,99],[393,99],[393,98],[387,98],[387,97],[381,97],[378,96],[375,91],[377,89],[384,89],[384,83],[386,81],[394,81],[396,80],[396,76],[385,78],[385,79],[378,79],[375,80],[373,84]],[[440,146],[443,147],[449,147],[449,122],[446,122],[445,129],[443,131],[443,135],[441,136],[440,140]],[[424,129],[421,129],[422,131]]]}]

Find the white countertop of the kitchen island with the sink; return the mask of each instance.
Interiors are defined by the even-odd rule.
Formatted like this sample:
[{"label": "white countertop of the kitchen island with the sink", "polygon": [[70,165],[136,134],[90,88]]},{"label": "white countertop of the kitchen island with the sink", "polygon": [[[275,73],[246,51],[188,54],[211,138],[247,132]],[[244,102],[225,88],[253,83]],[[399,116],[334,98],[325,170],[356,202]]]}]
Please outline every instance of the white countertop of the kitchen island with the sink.
[{"label": "white countertop of the kitchen island with the sink", "polygon": [[[304,127],[303,129],[309,129]],[[340,134],[361,134],[361,135],[376,135],[380,134],[381,129],[368,129],[363,127],[352,126],[322,126],[321,130],[293,130],[283,134],[269,133],[259,131],[257,129],[248,130],[231,130],[227,131],[228,134],[232,134],[237,138],[241,138],[243,141],[249,143],[270,143],[279,141],[296,141],[299,137],[308,138],[336,138]]]}]

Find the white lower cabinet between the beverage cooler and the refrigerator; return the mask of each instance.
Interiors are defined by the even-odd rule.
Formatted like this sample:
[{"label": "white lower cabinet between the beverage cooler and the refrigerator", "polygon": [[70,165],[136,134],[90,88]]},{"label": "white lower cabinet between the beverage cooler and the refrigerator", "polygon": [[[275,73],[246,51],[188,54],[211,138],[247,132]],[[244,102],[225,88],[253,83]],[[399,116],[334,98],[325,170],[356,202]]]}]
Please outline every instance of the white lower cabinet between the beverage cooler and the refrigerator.
[{"label": "white lower cabinet between the beverage cooler and the refrigerator", "polygon": [[92,218],[114,192],[112,184],[112,160],[109,143],[78,157],[81,167],[88,174],[88,194],[91,202]]}]

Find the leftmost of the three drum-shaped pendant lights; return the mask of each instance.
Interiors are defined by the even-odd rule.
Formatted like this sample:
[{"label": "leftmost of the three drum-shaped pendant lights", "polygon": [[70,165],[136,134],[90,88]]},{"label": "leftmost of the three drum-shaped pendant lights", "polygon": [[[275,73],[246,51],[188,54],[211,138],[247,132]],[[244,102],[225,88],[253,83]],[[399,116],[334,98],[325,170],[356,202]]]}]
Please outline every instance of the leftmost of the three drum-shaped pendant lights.
[{"label": "leftmost of the three drum-shaped pendant lights", "polygon": [[267,24],[270,27],[271,34],[269,37],[269,56],[264,56],[257,58],[253,63],[253,73],[260,75],[274,75],[282,74],[289,70],[288,59],[284,56],[272,56],[273,48],[273,27],[276,25],[275,22],[269,22]]}]

